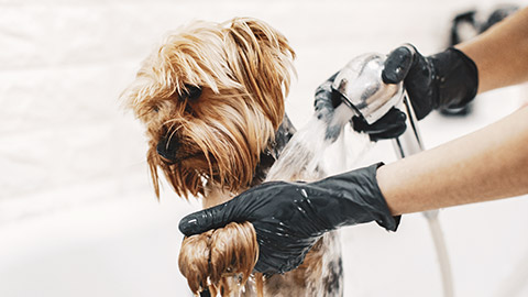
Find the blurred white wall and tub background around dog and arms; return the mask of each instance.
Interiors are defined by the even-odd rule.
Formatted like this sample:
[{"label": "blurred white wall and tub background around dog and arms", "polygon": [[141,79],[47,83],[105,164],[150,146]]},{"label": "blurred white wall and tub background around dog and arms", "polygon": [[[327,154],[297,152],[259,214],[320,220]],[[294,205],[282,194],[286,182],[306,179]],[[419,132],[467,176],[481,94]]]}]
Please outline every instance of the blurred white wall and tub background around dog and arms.
[{"label": "blurred white wall and tub background around dog and arms", "polygon": [[[118,100],[141,61],[191,20],[262,19],[297,53],[287,99],[297,127],[315,88],[350,58],[404,42],[449,45],[455,14],[490,0],[0,0],[0,296],[190,296],[177,268],[179,219],[200,204],[156,200],[143,129]],[[507,65],[505,65],[507,67]],[[427,147],[528,100],[526,86],[481,95],[465,117],[420,122]],[[389,142],[361,161],[393,162]],[[361,164],[360,164],[361,165]],[[457,296],[528,296],[528,197],[440,212]],[[342,232],[345,296],[442,296],[424,217],[396,233]]]}]

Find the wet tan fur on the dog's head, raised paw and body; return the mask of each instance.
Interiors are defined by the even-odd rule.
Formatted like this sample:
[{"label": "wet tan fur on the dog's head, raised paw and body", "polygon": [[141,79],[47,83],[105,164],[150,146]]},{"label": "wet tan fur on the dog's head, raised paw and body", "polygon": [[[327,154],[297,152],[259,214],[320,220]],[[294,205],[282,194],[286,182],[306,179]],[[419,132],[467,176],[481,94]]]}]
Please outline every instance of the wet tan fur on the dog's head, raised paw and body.
[{"label": "wet tan fur on the dog's head, raised paw and body", "polygon": [[[165,37],[122,94],[146,125],[146,160],[158,197],[158,172],[177,195],[201,196],[205,207],[250,187],[285,116],[294,57],[287,40],[255,19],[194,22]],[[193,86],[201,88],[195,100],[186,97]],[[156,151],[164,140],[177,147],[173,160]],[[312,294],[323,293],[324,265],[336,258],[327,251],[339,251],[336,244],[336,237],[326,235],[301,267],[264,284],[252,276],[241,295],[323,296]],[[230,296],[250,277],[256,256],[251,223],[232,223],[187,238],[179,267],[194,293],[209,287],[212,296]]]}]

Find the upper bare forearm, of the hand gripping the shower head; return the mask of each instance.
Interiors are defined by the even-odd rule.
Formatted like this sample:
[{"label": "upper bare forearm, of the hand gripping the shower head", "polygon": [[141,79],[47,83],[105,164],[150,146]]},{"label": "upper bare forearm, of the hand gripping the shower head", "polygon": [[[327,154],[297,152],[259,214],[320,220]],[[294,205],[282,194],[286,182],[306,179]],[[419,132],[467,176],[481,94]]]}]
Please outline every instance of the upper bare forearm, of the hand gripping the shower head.
[{"label": "upper bare forearm, of the hand gripping the shower head", "polygon": [[455,46],[479,68],[479,92],[528,80],[528,8]]}]

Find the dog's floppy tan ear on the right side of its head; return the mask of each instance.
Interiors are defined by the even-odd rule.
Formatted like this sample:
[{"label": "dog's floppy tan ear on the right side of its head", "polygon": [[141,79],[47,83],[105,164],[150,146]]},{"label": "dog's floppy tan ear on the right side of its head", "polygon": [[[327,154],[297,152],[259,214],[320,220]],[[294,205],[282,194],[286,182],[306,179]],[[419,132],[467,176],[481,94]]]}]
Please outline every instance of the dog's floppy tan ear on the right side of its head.
[{"label": "dog's floppy tan ear on the right side of its head", "polygon": [[228,28],[229,58],[234,75],[277,129],[284,117],[295,52],[286,37],[267,23],[249,18],[233,19]]}]

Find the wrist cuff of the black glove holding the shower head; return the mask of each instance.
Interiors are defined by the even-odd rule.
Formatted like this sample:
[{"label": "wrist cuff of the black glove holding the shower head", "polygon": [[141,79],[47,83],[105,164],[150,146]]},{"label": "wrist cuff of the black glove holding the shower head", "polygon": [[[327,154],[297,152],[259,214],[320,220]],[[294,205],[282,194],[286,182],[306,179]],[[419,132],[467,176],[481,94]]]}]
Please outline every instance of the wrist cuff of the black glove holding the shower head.
[{"label": "wrist cuff of the black glove holding the shower head", "polygon": [[433,64],[433,80],[438,98],[433,108],[461,108],[476,96],[479,69],[475,63],[461,51],[449,47],[430,57]]}]

